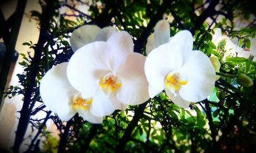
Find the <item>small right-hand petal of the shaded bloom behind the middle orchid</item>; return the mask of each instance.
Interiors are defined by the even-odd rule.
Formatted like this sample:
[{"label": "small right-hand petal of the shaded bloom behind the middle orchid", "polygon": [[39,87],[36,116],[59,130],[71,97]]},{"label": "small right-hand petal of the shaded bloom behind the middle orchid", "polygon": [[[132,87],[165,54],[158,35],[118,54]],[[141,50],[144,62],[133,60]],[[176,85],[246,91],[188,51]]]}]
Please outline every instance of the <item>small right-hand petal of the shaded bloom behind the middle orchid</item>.
[{"label": "small right-hand petal of the shaded bloom behind the middle orchid", "polygon": [[100,30],[100,32],[95,37],[95,41],[107,41],[109,37],[117,33],[116,29],[114,27],[105,27]]}]

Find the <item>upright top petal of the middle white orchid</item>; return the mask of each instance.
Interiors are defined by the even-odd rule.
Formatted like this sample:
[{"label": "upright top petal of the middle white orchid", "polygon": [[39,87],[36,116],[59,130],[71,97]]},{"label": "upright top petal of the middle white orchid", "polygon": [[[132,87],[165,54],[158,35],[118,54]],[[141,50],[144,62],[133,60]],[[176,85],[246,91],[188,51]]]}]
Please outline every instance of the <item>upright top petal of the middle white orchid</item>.
[{"label": "upright top petal of the middle white orchid", "polygon": [[127,54],[134,52],[134,44],[131,35],[125,31],[112,34],[107,43],[111,46],[110,66],[116,71],[125,63]]}]

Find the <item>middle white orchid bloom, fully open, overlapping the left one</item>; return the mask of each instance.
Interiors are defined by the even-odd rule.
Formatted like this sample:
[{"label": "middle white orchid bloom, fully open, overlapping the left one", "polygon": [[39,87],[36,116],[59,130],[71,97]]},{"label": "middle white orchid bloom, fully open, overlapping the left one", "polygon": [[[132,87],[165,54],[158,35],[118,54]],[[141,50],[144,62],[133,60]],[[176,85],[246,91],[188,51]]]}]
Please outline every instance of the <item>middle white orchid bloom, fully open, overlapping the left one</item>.
[{"label": "middle white orchid bloom, fully open, overlapping the left one", "polygon": [[[130,34],[124,31],[112,34],[106,42],[89,43],[71,57],[68,80],[82,97],[104,95],[119,110],[144,103],[149,99],[145,57],[134,53],[133,48]],[[101,110],[95,108],[92,113]]]}]

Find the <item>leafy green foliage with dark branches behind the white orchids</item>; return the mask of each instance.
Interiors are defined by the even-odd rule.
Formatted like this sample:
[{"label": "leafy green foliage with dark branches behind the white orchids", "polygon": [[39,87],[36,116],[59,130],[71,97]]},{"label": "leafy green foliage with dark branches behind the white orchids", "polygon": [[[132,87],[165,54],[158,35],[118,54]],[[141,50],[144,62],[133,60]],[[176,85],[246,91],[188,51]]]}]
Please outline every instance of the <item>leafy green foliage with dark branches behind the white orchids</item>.
[{"label": "leafy green foliage with dark branches behind the white orchids", "polygon": [[[45,33],[49,34],[47,35],[49,40],[44,44],[41,60],[38,62],[36,80],[32,80],[36,82],[36,85],[33,86],[31,103],[29,103],[31,116],[45,111],[42,101],[38,98],[38,87],[42,76],[52,66],[66,62],[72,56],[73,52],[67,40],[73,29],[83,24],[97,24],[101,27],[116,26],[132,35],[135,46],[141,43],[142,48],[137,52],[145,53],[146,38],[154,31],[155,26],[154,24],[150,25],[150,22],[161,19],[161,16],[155,17],[155,14],[163,8],[164,2],[157,0],[150,1],[150,3],[146,0],[101,1],[102,8],[96,3],[92,3],[90,13],[80,13],[75,16],[74,21],[67,19],[65,14],[59,16],[60,11],[56,9],[51,18],[48,33]],[[83,2],[78,1],[78,3]],[[212,38],[213,28],[220,27],[229,37],[238,38],[240,47],[250,49],[252,43],[249,37],[255,37],[255,21],[247,27],[234,30],[235,25],[230,18],[233,19],[241,13],[245,13],[244,15],[248,19],[249,12],[233,1],[223,1],[223,3],[225,3],[225,7],[221,10],[223,11],[221,14],[227,12],[229,14],[226,14],[222,21],[217,22],[215,14],[206,14],[213,19],[215,25],[201,23],[201,16],[195,13],[204,13],[201,6],[204,1],[174,1],[164,11],[167,17],[173,18],[170,23],[170,36],[174,36],[181,29],[189,29],[194,35],[194,50],[200,50],[208,56],[213,54],[221,62],[220,80],[215,82],[214,91],[208,100],[192,102],[189,108],[184,109],[171,102],[165,92],[161,92],[147,102],[141,116],[135,117],[140,106],[129,106],[125,111],[115,111],[112,115],[106,116],[102,125],[92,125],[77,115],[68,122],[61,122],[52,113],[47,120],[51,119],[57,126],[60,132],[60,141],[42,130],[42,137],[45,137],[46,140],[42,141],[41,151],[56,152],[57,147],[61,144],[65,145],[68,152],[79,152],[80,150],[83,152],[115,152],[121,143],[126,143],[122,150],[128,152],[211,152],[214,150],[239,152],[252,149],[256,144],[256,62],[252,58],[243,57],[228,57],[224,61],[227,41],[221,40],[215,46]],[[56,5],[61,6],[58,3]],[[42,2],[41,6],[42,10],[47,7]],[[237,9],[239,9],[238,12]],[[72,11],[76,12],[75,9]],[[40,12],[32,11],[27,16],[38,21],[40,26],[43,15]],[[114,21],[111,21],[112,18]],[[29,52],[37,47],[37,44],[32,42],[24,42],[23,45],[29,46],[31,49]],[[27,75],[35,68],[35,65],[32,64],[33,57],[30,54],[28,57],[23,54],[21,56],[23,61],[19,62],[19,65],[24,68],[24,71],[18,74],[21,85],[10,86],[9,97],[15,96],[17,93],[26,93],[27,87],[31,85],[31,80]],[[237,76],[241,74],[252,78],[254,85],[250,87],[239,85]],[[35,102],[41,105],[34,107]],[[131,135],[124,139],[129,125],[136,119],[139,121],[134,124]],[[32,119],[30,121],[36,122]],[[43,122],[43,120],[38,122]],[[68,127],[68,124],[71,126]],[[33,128],[40,129],[40,126],[33,125]],[[38,149],[36,143],[32,146],[30,151]]]}]

